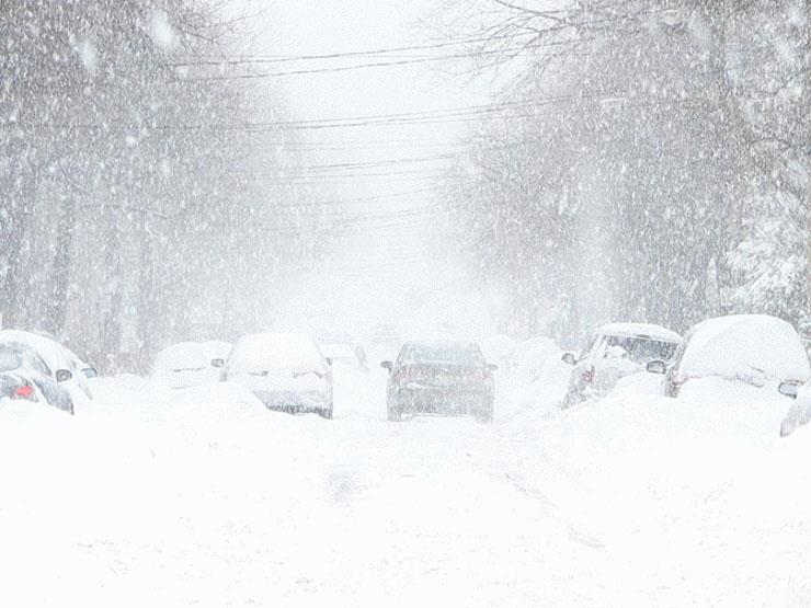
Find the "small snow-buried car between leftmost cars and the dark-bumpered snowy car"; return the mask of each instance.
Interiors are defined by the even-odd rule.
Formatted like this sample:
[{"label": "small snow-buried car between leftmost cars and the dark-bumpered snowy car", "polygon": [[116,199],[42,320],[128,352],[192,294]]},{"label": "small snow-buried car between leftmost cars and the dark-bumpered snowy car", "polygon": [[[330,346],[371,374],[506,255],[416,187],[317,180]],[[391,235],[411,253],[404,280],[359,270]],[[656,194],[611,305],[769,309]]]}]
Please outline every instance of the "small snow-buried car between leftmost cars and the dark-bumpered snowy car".
[{"label": "small snow-buried car between leftmost cars and the dark-bumpered snowy car", "polygon": [[212,385],[219,380],[216,358],[198,342],[172,344],[155,357],[152,378],[172,389]]}]

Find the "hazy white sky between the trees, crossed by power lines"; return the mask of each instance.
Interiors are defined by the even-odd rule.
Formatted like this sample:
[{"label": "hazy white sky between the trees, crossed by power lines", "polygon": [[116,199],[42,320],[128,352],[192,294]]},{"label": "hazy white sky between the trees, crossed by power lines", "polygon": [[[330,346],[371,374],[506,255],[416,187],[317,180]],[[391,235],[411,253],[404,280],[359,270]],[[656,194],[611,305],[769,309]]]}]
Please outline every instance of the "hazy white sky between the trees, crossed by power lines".
[{"label": "hazy white sky between the trees, crossed by power lines", "polygon": [[283,154],[304,167],[294,180],[336,229],[266,322],[355,334],[382,322],[407,333],[490,329],[492,299],[471,290],[441,183],[470,128],[446,113],[486,103],[487,87],[442,61],[431,14],[423,2],[305,0],[258,19],[252,48],[287,56],[271,66],[287,72],[273,85],[306,127]]}]

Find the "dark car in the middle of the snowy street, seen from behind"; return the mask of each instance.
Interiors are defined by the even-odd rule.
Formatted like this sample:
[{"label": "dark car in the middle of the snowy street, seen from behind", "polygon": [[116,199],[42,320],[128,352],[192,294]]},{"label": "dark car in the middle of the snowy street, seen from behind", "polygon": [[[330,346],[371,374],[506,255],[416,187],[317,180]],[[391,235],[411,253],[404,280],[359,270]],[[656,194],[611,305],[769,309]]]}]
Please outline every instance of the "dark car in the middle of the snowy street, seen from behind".
[{"label": "dark car in the middle of the snowy street, seen from behind", "polygon": [[493,420],[493,371],[473,342],[407,342],[389,371],[387,410],[390,421],[403,415],[473,415]]}]

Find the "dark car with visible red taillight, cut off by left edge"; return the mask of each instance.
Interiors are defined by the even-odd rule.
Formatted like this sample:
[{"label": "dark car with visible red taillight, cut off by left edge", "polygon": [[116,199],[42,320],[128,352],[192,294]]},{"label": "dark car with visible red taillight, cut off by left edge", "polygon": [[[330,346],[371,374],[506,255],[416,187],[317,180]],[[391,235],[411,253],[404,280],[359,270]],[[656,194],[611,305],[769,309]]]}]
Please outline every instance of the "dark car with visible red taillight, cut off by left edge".
[{"label": "dark car with visible red taillight, cut off by left edge", "polygon": [[73,413],[68,369],[52,369],[30,345],[0,341],[0,399],[45,402]]}]

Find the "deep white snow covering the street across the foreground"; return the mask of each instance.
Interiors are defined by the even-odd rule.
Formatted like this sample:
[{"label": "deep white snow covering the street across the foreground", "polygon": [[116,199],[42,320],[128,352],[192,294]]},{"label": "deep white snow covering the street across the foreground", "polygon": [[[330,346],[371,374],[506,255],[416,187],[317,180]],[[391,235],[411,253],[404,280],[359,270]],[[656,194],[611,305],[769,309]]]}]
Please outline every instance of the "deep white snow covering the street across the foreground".
[{"label": "deep white snow covering the street across the foreground", "polygon": [[2,403],[0,605],[811,604],[811,429],[778,437],[780,398],[552,415],[552,383],[393,424],[384,381],[336,378],[334,421],[134,377],[72,418]]}]

